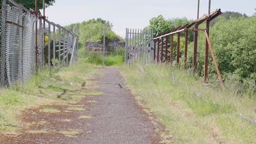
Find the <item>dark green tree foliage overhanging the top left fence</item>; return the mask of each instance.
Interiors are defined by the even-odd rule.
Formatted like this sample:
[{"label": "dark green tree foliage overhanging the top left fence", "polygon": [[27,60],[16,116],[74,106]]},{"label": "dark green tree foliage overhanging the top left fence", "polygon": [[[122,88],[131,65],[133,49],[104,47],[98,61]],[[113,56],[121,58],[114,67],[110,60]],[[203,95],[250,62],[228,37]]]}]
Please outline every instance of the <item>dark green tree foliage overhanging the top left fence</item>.
[{"label": "dark green tree foliage overhanging the top left fence", "polygon": [[[35,8],[35,1],[34,0],[16,0],[19,4],[24,5],[27,9],[34,9]],[[55,0],[45,0],[45,7],[49,7],[50,5],[53,5],[55,3]],[[0,4],[2,7],[2,3]],[[43,9],[43,0],[38,0],[38,9]]]}]

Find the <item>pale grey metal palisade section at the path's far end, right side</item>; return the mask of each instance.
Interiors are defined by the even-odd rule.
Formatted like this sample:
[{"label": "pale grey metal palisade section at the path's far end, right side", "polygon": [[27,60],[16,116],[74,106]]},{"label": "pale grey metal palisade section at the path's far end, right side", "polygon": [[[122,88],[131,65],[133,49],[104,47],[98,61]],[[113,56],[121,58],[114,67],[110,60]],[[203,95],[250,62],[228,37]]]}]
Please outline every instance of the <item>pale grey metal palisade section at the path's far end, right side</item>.
[{"label": "pale grey metal palisade section at the path's far end, right side", "polygon": [[153,61],[153,30],[126,28],[125,64]]}]

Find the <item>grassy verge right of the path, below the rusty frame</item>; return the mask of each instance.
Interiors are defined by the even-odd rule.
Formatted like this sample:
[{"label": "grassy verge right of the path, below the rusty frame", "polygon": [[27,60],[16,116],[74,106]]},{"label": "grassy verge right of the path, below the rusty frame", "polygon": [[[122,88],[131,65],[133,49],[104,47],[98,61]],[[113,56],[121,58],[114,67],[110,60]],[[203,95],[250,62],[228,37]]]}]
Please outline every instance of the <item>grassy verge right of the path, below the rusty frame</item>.
[{"label": "grassy verge right of the path, below the rusty frame", "polygon": [[256,119],[255,95],[238,94],[230,88],[203,85],[186,70],[165,65],[121,67],[121,74],[136,99],[146,101],[165,125],[165,143],[254,143],[256,126],[237,116]]}]

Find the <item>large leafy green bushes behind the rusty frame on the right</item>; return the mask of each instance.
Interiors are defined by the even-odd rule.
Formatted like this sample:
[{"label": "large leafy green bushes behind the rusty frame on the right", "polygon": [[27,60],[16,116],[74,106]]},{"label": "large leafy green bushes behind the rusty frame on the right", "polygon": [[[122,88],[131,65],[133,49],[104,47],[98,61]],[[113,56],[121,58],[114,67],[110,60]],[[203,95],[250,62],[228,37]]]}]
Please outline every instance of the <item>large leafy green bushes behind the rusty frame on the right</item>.
[{"label": "large leafy green bushes behind the rusty frame on the right", "polygon": [[[249,92],[256,89],[256,16],[240,17],[238,19],[224,18],[210,29],[210,40],[220,73],[224,80],[243,83]],[[192,61],[193,45],[190,44],[190,61]],[[205,56],[205,35],[200,33],[198,41],[197,71],[203,75]],[[216,70],[210,57],[210,76],[216,76]]]}]

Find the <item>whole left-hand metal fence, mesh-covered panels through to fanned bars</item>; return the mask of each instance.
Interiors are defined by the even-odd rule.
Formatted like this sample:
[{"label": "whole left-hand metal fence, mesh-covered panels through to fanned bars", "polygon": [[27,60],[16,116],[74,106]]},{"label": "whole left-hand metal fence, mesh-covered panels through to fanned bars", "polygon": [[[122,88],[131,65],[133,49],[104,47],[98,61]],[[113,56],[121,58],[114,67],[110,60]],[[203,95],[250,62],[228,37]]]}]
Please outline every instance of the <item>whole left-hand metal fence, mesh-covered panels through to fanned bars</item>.
[{"label": "whole left-hand metal fence, mesh-covered panels through to fanned bars", "polygon": [[[46,63],[49,70],[56,71],[77,61],[76,29],[71,32],[49,20],[44,25],[43,16],[7,1],[10,5],[3,2],[0,17],[0,87],[26,82],[34,70],[44,70]],[[47,49],[45,35],[49,37]]]}]

